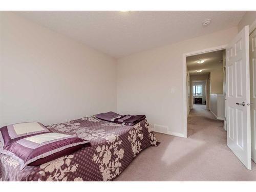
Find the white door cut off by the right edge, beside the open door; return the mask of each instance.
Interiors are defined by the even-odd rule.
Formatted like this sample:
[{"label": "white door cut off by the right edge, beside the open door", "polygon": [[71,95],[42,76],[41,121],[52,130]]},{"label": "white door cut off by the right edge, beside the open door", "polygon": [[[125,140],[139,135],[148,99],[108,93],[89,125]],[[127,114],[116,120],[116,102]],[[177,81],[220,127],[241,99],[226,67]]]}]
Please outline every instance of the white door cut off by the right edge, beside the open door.
[{"label": "white door cut off by the right edge, beside the open door", "polygon": [[256,29],[250,34],[251,158],[256,162]]}]

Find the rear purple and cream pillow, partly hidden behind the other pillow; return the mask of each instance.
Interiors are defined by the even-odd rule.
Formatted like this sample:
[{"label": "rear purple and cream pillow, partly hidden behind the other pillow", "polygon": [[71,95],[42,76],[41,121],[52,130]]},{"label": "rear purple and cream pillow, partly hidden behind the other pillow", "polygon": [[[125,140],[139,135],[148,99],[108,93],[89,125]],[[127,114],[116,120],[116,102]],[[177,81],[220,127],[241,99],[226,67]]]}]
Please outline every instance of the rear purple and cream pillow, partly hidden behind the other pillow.
[{"label": "rear purple and cream pillow, partly hidden behind the other pillow", "polygon": [[7,125],[0,129],[0,142],[3,143],[3,147],[7,147],[19,139],[47,132],[50,131],[38,122]]}]

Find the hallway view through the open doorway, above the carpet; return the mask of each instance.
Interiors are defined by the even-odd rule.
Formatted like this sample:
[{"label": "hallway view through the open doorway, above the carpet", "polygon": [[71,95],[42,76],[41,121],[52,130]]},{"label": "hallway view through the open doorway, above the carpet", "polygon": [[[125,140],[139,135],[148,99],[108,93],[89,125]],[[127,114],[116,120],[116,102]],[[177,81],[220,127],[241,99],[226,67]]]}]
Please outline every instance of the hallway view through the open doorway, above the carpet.
[{"label": "hallway view through the open doorway, above the carpet", "polygon": [[[186,57],[190,109],[204,105],[218,120],[225,120],[225,49]],[[202,106],[201,106],[202,108]],[[189,114],[189,113],[188,113]],[[224,123],[225,124],[225,123]],[[225,130],[225,127],[223,126]]]}]

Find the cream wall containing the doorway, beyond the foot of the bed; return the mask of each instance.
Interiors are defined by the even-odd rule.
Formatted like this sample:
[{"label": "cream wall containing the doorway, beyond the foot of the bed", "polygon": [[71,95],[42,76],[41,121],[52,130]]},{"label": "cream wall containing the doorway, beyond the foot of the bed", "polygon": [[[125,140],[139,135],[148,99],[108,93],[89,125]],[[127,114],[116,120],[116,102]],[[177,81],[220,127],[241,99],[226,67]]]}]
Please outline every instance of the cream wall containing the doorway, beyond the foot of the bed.
[{"label": "cream wall containing the doorway, beyond the foot of the bed", "polygon": [[145,114],[152,127],[185,136],[182,56],[226,45],[237,31],[234,27],[118,59],[117,111]]}]

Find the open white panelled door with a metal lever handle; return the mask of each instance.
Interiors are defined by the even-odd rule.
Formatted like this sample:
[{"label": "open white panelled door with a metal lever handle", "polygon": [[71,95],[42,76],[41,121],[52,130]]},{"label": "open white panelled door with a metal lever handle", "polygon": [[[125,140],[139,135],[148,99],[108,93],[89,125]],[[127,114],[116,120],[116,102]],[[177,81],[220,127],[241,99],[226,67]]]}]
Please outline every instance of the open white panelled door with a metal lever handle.
[{"label": "open white panelled door with a metal lever handle", "polygon": [[226,48],[227,145],[251,169],[249,27]]}]

